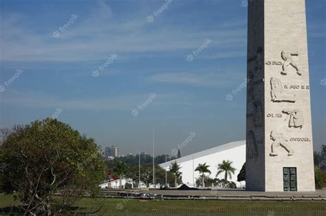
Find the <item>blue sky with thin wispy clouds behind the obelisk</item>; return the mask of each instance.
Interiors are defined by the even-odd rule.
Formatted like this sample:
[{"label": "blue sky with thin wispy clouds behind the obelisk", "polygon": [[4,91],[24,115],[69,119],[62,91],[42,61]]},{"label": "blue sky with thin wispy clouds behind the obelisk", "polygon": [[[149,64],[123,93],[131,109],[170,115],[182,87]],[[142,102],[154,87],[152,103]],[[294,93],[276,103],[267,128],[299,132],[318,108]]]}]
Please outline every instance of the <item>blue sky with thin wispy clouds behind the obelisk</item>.
[{"label": "blue sky with thin wispy clouds behind the obelisk", "polygon": [[[151,152],[153,126],[156,154],[190,132],[182,155],[245,139],[246,88],[232,101],[226,95],[246,77],[247,8],[241,0],[174,0],[160,10],[164,3],[0,0],[1,127],[60,108],[58,120],[122,154]],[[307,1],[315,149],[326,144],[325,11],[326,1]]]}]

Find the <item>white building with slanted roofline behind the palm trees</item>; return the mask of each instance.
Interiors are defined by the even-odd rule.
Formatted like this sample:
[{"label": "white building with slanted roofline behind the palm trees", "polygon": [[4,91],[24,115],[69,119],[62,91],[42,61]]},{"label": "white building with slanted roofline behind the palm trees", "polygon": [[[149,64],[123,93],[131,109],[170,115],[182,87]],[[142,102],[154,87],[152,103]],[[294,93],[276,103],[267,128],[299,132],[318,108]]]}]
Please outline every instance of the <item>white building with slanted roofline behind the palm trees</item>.
[{"label": "white building with slanted roofline behind the palm trees", "polygon": [[[197,178],[199,178],[199,172],[195,171],[199,163],[206,163],[206,165],[210,165],[208,169],[212,173],[209,177],[215,178],[217,174],[217,165],[223,160],[232,161],[232,166],[236,169],[235,175],[232,175],[232,179],[228,178],[228,180],[235,182],[237,187],[243,187],[245,182],[237,182],[237,175],[239,174],[243,163],[246,162],[246,141],[237,141],[219,145],[202,152],[197,152],[182,158],[177,158],[176,160],[162,163],[160,164],[160,167],[169,170],[171,163],[177,161],[177,164],[181,167],[180,171],[182,172],[182,182],[190,187],[193,187]],[[208,173],[205,173],[205,175],[208,175]],[[224,178],[224,173],[219,174],[217,178]]]}]

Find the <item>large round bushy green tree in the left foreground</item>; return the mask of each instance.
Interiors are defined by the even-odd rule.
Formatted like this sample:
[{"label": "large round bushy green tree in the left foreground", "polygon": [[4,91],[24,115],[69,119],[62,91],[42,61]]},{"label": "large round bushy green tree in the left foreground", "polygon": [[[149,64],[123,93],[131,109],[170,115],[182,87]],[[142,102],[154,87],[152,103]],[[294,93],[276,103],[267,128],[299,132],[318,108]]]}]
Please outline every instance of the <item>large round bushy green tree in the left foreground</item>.
[{"label": "large round bushy green tree in the left foreground", "polygon": [[54,215],[95,195],[105,171],[94,139],[56,119],[12,128],[0,150],[1,192],[14,193],[25,215]]}]

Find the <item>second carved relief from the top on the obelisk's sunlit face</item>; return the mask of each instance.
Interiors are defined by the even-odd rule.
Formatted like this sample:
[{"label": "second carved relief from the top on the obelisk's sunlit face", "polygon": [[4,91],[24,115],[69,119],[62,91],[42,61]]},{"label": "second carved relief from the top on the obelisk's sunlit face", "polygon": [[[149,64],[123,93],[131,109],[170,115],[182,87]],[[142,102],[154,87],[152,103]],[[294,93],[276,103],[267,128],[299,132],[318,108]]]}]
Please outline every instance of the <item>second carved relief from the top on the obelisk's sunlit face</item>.
[{"label": "second carved relief from the top on the obelisk's sunlit face", "polygon": [[270,79],[270,87],[270,95],[272,96],[272,101],[287,101],[292,103],[296,101],[296,95],[294,95],[293,93],[289,93],[283,89],[281,80],[272,77]]}]

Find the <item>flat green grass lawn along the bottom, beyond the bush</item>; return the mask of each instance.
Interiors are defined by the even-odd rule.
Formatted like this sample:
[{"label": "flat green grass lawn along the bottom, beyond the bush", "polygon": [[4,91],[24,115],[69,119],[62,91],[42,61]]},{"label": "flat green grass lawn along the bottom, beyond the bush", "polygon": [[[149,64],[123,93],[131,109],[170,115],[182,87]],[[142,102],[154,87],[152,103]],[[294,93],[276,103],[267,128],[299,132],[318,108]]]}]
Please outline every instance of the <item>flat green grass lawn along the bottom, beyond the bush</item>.
[{"label": "flat green grass lawn along the bottom, beyond the bush", "polygon": [[[0,194],[0,208],[10,209],[12,205],[19,205],[19,202],[14,201],[12,196]],[[103,206],[102,206],[103,205]],[[326,206],[326,202],[304,202],[304,201],[219,201],[219,200],[153,200],[140,202],[139,200],[127,199],[112,199],[112,198],[83,198],[74,204],[76,208],[81,206],[79,212],[95,211],[99,206],[102,206],[101,212],[107,211],[146,211],[155,210],[193,210],[193,209],[221,209],[221,208],[281,208],[281,207],[302,207],[315,208]]]}]

